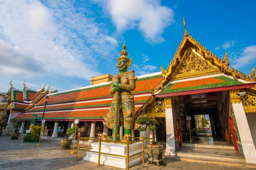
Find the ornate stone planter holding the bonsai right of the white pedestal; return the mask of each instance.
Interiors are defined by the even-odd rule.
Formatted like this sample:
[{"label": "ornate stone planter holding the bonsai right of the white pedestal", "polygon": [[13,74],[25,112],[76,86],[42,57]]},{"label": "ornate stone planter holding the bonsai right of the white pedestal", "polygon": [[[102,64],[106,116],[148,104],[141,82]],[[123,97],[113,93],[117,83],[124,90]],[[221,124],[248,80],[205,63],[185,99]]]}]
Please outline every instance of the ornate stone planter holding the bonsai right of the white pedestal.
[{"label": "ornate stone planter holding the bonsai right of the white pedestal", "polygon": [[153,162],[157,163],[157,166],[163,164],[163,153],[164,148],[163,144],[150,145],[147,144],[147,154],[148,154],[148,163],[152,164]]}]

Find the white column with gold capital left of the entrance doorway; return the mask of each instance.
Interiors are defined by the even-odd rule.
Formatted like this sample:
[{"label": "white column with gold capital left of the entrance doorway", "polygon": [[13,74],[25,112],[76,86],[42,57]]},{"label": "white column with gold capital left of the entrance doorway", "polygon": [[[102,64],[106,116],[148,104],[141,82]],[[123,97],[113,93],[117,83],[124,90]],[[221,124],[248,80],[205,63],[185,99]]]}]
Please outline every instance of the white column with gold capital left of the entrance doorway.
[{"label": "white column with gold capital left of the entrance doorway", "polygon": [[166,112],[166,155],[175,155],[175,132],[171,97],[164,98],[164,103]]}]

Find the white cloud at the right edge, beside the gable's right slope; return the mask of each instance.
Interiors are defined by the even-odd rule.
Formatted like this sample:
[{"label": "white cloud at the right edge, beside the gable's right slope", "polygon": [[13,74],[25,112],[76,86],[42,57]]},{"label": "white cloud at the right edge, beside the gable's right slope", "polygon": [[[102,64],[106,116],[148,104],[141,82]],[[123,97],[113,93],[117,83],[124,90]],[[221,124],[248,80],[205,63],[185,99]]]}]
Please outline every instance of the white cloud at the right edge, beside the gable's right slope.
[{"label": "white cloud at the right edge, beside the gable's right slope", "polygon": [[230,54],[230,65],[233,68],[254,66],[256,64],[256,45],[247,46]]}]

